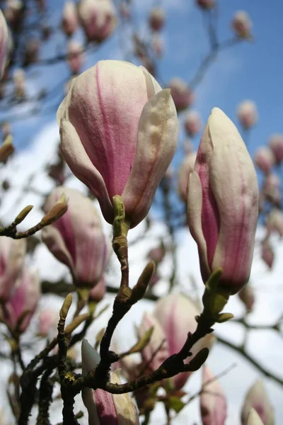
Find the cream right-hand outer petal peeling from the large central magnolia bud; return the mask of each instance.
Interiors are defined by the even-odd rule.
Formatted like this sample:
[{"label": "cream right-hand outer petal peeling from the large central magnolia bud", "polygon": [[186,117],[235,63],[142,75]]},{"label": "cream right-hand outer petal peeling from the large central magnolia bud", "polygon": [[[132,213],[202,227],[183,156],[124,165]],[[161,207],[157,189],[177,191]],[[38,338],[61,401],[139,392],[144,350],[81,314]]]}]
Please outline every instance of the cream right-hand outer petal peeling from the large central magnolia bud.
[{"label": "cream right-hand outer petal peeling from the large central magnolia bud", "polygon": [[158,184],[173,159],[178,140],[178,118],[170,90],[149,100],[139,118],[137,152],[122,192],[131,227],[149,212]]}]

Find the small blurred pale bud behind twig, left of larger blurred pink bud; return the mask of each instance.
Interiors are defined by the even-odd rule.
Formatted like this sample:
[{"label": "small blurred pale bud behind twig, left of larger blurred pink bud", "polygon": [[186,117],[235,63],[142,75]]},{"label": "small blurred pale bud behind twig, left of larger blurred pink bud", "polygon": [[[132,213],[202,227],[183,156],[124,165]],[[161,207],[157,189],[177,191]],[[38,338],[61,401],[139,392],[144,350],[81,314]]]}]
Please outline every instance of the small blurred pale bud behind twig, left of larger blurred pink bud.
[{"label": "small blurred pale bud behind twig, left of larger blurred pink bud", "polygon": [[151,370],[156,370],[168,358],[168,342],[158,320],[149,312],[145,312],[141,324],[137,328],[139,338],[144,336],[151,327],[154,328],[154,331],[151,334],[149,344],[146,344],[141,351],[141,356],[144,364],[149,364]]}]

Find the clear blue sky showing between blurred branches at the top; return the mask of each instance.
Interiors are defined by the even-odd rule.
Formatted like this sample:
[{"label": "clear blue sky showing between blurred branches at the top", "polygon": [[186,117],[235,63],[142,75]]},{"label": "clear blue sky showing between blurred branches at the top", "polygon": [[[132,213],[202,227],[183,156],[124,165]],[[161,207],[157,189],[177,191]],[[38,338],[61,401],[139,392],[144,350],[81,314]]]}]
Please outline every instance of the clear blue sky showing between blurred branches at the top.
[{"label": "clear blue sky showing between blurred branches at the top", "polygon": [[[260,3],[260,4],[259,4]],[[142,33],[146,33],[144,18],[152,4],[151,0],[133,2],[137,23]],[[167,12],[167,22],[162,35],[166,45],[166,52],[158,64],[158,73],[163,81],[171,77],[183,77],[190,81],[195,74],[198,64],[208,50],[207,35],[204,32],[200,10],[192,0],[164,0]],[[63,2],[51,1],[52,22],[59,21],[59,11]],[[260,120],[250,137],[250,152],[253,154],[258,145],[266,142],[272,132],[283,132],[282,98],[282,16],[283,6],[280,0],[220,0],[219,1],[219,39],[231,37],[231,17],[236,10],[248,11],[253,21],[255,41],[242,42],[230,50],[221,52],[212,67],[209,68],[204,80],[196,91],[194,108],[202,113],[203,120],[207,119],[213,106],[219,106],[233,120],[236,106],[245,98],[254,100],[258,105]],[[119,30],[105,42],[98,52],[88,56],[86,67],[96,63],[99,59],[110,57],[121,58]],[[124,37],[124,38],[123,38]],[[76,34],[81,38],[81,33]],[[58,32],[55,38],[47,43],[42,50],[42,57],[54,55],[54,44],[59,52],[64,52],[66,42]],[[41,74],[44,71],[44,74]],[[42,125],[54,119],[57,104],[63,96],[63,87],[60,81],[68,78],[68,68],[64,63],[52,67],[30,67],[28,81],[30,91],[38,86],[47,86],[52,89],[51,101],[47,101],[47,112],[35,115],[28,120],[21,120],[13,125],[15,142],[18,147],[28,147],[29,142]],[[54,96],[56,94],[56,96]],[[21,107],[22,109],[23,107]],[[13,110],[12,116],[18,111]],[[10,115],[10,114],[9,114]],[[10,116],[11,116],[10,115]],[[1,115],[4,118],[4,115]],[[197,140],[198,142],[198,140]]]}]

